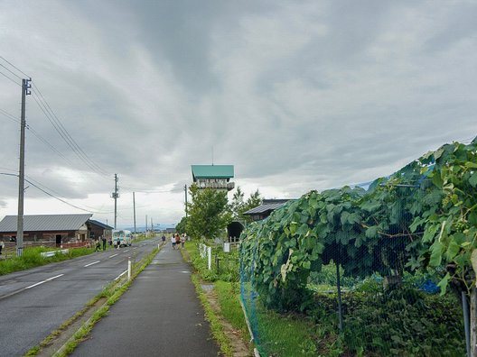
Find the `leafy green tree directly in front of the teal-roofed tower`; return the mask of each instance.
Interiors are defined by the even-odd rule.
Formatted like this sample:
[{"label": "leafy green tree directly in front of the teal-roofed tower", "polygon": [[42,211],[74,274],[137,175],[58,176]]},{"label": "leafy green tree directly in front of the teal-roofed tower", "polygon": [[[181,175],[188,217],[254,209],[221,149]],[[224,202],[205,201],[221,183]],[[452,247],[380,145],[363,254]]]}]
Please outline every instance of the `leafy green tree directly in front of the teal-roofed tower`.
[{"label": "leafy green tree directly in front of the teal-roofed tower", "polygon": [[187,233],[195,239],[213,239],[225,233],[232,220],[227,192],[192,185],[191,202],[187,204]]}]

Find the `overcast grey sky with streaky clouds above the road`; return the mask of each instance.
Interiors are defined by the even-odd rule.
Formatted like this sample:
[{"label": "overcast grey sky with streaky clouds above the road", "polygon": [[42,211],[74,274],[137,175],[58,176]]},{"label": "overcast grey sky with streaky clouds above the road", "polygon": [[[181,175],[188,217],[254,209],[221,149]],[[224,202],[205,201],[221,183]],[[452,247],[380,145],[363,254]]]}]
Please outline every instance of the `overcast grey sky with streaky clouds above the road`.
[{"label": "overcast grey sky with streaky clouds above the road", "polygon": [[[210,164],[212,151],[247,195],[281,198],[469,142],[475,19],[477,1],[465,0],[0,0],[0,56],[36,86],[24,213],[84,212],[38,186],[113,224],[117,173],[118,226],[133,223],[133,191],[137,224],[171,224],[191,165]],[[21,87],[7,69],[24,76],[0,64],[16,82],[0,76],[0,172],[15,174]],[[17,191],[0,175],[0,219],[16,215]]]}]

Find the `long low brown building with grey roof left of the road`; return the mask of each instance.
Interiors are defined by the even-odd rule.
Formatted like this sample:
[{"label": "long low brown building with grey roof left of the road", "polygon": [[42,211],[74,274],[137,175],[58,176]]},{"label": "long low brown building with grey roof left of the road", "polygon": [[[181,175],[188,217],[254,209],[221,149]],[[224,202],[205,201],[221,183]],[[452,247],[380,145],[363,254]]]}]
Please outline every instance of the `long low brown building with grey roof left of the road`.
[{"label": "long low brown building with grey roof left of the road", "polygon": [[[112,227],[91,220],[90,214],[23,215],[23,242],[71,243],[111,235]],[[6,215],[0,221],[0,240],[14,241],[17,215]],[[108,236],[108,235],[107,235]]]}]

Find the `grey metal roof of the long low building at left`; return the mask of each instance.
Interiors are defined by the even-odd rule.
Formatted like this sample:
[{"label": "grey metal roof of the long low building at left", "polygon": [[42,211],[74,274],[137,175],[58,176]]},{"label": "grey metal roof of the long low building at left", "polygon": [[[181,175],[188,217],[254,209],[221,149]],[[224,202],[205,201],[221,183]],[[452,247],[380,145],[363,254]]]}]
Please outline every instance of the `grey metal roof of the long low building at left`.
[{"label": "grey metal roof of the long low building at left", "polygon": [[[77,231],[91,214],[85,215],[23,215],[23,231]],[[5,215],[0,222],[0,232],[16,232],[17,216]]]}]

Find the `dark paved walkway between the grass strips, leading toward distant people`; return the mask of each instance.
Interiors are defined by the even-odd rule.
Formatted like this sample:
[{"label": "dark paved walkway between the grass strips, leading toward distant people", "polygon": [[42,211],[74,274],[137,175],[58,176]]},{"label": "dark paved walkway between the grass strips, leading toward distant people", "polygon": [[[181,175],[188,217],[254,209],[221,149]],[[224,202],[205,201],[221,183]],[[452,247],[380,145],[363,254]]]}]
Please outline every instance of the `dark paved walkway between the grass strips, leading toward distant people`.
[{"label": "dark paved walkway between the grass strips, leading toward distant people", "polygon": [[190,270],[165,246],[72,355],[217,356]]}]

